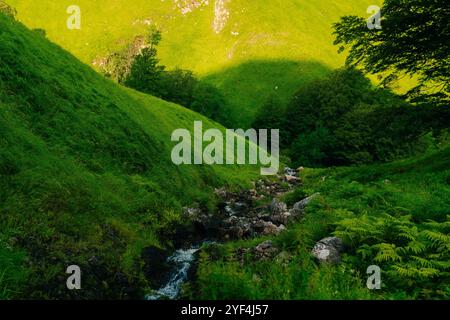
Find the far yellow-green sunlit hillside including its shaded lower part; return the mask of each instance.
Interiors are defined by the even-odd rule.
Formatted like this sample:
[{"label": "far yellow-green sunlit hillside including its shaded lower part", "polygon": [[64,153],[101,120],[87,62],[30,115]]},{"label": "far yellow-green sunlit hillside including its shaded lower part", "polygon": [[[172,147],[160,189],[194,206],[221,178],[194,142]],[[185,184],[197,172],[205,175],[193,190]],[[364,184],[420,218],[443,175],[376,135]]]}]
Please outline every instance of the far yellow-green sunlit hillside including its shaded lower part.
[{"label": "far yellow-green sunlit hillside including its shaded lower part", "polygon": [[332,44],[332,23],[343,15],[368,16],[367,7],[381,0],[217,1],[229,14],[220,31],[214,29],[215,1],[182,14],[176,3],[185,8],[203,1],[79,0],[81,30],[66,27],[73,1],[7,2],[19,20],[45,29],[87,64],[144,33],[146,23],[157,25],[163,32],[162,63],[218,85],[233,106],[230,119],[248,126],[268,96],[286,101],[302,83],[342,66],[345,57]]}]

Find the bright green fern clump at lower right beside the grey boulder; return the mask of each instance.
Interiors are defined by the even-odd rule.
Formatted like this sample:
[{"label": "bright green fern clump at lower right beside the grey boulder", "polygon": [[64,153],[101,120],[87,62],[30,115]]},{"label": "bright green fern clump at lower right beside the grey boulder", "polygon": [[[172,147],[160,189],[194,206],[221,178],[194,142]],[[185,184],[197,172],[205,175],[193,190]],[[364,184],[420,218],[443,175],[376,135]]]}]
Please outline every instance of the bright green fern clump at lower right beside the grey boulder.
[{"label": "bright green fern clump at lower right beside the grey boulder", "polygon": [[416,298],[449,298],[450,216],[418,226],[408,215],[364,215],[337,226],[335,234],[356,252],[361,269],[373,263],[382,268],[389,291],[402,288]]}]

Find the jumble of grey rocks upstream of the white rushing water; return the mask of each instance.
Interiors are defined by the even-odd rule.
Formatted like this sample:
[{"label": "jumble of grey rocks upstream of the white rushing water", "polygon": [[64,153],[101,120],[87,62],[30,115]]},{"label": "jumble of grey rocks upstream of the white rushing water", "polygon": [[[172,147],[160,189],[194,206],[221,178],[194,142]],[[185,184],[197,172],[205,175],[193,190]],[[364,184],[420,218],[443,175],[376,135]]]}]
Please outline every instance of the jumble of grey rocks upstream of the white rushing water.
[{"label": "jumble of grey rocks upstream of the white rushing water", "polygon": [[[297,174],[296,170],[286,168],[286,173]],[[207,230],[210,238],[218,240],[237,240],[259,235],[278,235],[286,226],[303,215],[305,207],[314,198],[308,197],[289,209],[286,203],[277,197],[293,188],[293,185],[278,181],[258,180],[250,190],[239,192],[226,188],[215,189],[220,199],[219,212],[209,214],[198,206],[184,208],[184,216]],[[266,206],[255,206],[255,203],[270,197],[271,203]]]}]

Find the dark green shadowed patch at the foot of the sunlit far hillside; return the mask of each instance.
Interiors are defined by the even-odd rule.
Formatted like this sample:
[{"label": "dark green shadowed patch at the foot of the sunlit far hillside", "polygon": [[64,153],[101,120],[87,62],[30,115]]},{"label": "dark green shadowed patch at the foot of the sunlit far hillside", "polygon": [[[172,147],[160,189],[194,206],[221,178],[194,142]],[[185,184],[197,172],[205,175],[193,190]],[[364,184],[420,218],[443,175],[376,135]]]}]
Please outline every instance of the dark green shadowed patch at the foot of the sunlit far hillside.
[{"label": "dark green shadowed patch at the foot of the sunlit far hillside", "polygon": [[252,60],[205,76],[228,102],[221,115],[234,127],[249,127],[269,97],[288,103],[304,84],[331,70],[316,61]]}]

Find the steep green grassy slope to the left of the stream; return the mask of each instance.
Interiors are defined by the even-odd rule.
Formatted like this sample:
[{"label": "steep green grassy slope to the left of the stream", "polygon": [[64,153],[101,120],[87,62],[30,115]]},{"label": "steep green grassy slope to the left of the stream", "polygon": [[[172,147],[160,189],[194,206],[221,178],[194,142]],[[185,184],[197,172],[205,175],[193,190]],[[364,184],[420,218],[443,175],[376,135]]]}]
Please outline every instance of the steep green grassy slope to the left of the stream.
[{"label": "steep green grassy slope to the left of the stream", "polygon": [[170,245],[181,206],[258,173],[172,164],[171,133],[194,120],[218,126],[104,79],[0,14],[0,291],[74,295],[65,269],[77,264],[83,297],[139,295],[141,251]]}]

